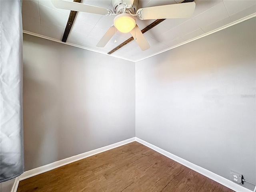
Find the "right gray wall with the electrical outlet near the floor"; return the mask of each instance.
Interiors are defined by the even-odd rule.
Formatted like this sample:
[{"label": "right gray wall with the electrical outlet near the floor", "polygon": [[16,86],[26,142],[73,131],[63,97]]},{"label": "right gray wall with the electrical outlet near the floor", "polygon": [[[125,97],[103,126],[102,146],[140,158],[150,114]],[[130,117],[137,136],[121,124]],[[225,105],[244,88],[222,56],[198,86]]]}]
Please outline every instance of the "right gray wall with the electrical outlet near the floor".
[{"label": "right gray wall with the electrical outlet near the floor", "polygon": [[255,183],[255,28],[252,18],[136,62],[136,137]]}]

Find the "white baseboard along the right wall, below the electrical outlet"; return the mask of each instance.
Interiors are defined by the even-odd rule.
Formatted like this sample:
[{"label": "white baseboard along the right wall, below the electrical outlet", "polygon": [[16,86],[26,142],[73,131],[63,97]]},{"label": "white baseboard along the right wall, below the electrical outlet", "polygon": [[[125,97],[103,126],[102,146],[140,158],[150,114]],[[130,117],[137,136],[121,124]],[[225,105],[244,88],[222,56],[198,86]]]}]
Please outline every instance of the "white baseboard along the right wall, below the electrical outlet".
[{"label": "white baseboard along the right wall, below the electrical outlet", "polygon": [[196,171],[196,172],[198,172],[198,173],[200,173],[200,174],[202,174],[202,175],[204,175],[204,176],[206,176],[206,177],[208,177],[208,178],[210,178],[210,179],[212,179],[212,180],[214,180],[214,181],[216,181],[216,182],[218,182],[218,183],[220,183],[220,184],[222,184],[222,185],[224,185],[224,186],[226,186],[226,187],[228,187],[228,188],[230,188],[234,191],[236,191],[236,192],[252,192],[251,190],[249,190],[249,189],[247,189],[243,186],[240,186],[240,185],[232,182],[231,180],[228,180],[228,179],[226,179],[222,176],[219,176],[219,175],[217,175],[217,174],[215,174],[215,173],[213,173],[213,172],[211,172],[211,171],[209,171],[205,168],[202,168],[202,167],[200,167],[196,164],[193,164],[193,163],[191,163],[187,160],[184,160],[184,159],[182,159],[182,158],[180,158],[180,157],[178,157],[174,154],[171,154],[170,152],[168,152],[166,150],[163,150],[163,149],[161,149],[157,146],[154,146],[154,145],[152,145],[152,144],[150,144],[150,143],[148,143],[148,142],[146,142],[146,141],[144,141],[140,138],[136,137],[136,141],[145,145],[145,146],[147,146],[147,147],[149,147],[149,148],[151,148],[152,150],[154,150],[154,151],[156,151],[156,152],[158,152],[158,153],[160,153],[160,154],[162,154],[162,155],[164,155],[164,156],[166,156],[166,157],[168,157],[168,158],[170,158],[170,159],[172,159],[172,160],[174,160],[174,161],[176,161],[176,162],[178,162],[178,163],[180,163],[180,164],[182,164],[182,165],[184,165],[184,166],[186,166],[186,167],[188,167],[188,168],[190,168],[190,169],[192,169],[192,170],[194,170],[194,171]]}]

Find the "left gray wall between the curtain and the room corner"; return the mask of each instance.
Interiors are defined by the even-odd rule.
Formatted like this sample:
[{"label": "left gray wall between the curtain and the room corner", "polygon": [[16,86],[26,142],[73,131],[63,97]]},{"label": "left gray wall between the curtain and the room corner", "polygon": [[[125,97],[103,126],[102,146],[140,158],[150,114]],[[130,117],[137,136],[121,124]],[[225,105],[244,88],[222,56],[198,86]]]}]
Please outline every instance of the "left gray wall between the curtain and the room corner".
[{"label": "left gray wall between the curtain and the room corner", "polygon": [[135,63],[24,34],[25,170],[135,136]]}]

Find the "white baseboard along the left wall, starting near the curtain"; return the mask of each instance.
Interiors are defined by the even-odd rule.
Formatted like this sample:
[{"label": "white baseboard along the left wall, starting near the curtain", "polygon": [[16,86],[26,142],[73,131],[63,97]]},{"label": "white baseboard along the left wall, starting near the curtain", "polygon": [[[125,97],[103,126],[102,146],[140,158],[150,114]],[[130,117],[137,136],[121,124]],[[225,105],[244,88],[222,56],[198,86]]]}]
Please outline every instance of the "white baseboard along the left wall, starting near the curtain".
[{"label": "white baseboard along the left wall, starting near the curtain", "polygon": [[[114,144],[111,144],[111,145],[108,145],[108,146],[105,146],[105,147],[101,147],[101,148],[98,148],[98,149],[95,149],[95,150],[91,150],[91,151],[88,151],[88,152],[85,152],[85,153],[82,153],[82,154],[78,154],[76,156],[72,156],[72,157],[69,157],[69,158],[66,158],[66,159],[62,159],[62,160],[59,160],[59,161],[56,161],[56,162],[53,162],[53,163],[50,163],[50,164],[38,167],[38,168],[34,168],[32,170],[25,171],[24,173],[22,173],[18,177],[18,180],[21,181],[21,180],[24,180],[26,178],[30,178],[32,176],[44,173],[46,171],[53,170],[55,168],[64,166],[66,164],[69,164],[69,163],[72,163],[72,162],[84,159],[86,157],[90,157],[90,156],[96,155],[98,153],[101,153],[101,152],[104,152],[104,151],[107,151],[107,150],[110,150],[110,149],[113,149],[113,148],[116,148],[116,147],[128,144],[130,142],[134,142],[134,141],[135,141],[135,137],[127,139],[127,140],[124,140],[124,141],[120,141],[120,142],[117,142],[117,143],[114,143]],[[13,191],[13,192],[16,192],[16,191]]]}]

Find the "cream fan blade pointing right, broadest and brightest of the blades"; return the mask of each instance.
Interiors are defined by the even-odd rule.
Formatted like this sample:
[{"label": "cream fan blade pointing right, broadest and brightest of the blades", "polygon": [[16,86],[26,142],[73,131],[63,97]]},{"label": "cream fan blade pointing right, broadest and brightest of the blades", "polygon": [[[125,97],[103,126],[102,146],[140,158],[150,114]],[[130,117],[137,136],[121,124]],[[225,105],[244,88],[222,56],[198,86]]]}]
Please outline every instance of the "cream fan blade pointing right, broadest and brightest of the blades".
[{"label": "cream fan blade pointing right, broadest and brightest of the blades", "polygon": [[140,8],[137,17],[144,19],[188,18],[194,13],[195,2]]}]

